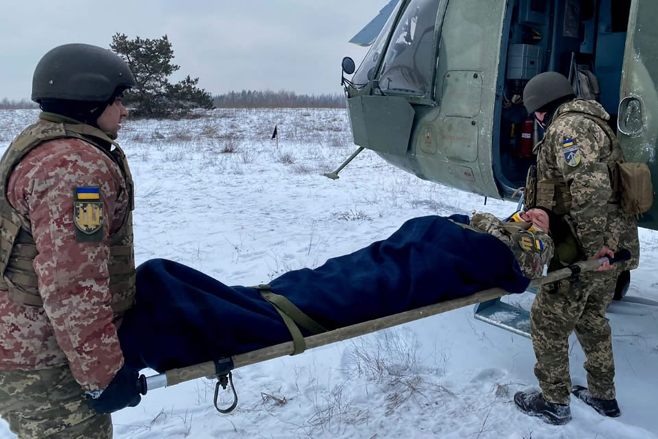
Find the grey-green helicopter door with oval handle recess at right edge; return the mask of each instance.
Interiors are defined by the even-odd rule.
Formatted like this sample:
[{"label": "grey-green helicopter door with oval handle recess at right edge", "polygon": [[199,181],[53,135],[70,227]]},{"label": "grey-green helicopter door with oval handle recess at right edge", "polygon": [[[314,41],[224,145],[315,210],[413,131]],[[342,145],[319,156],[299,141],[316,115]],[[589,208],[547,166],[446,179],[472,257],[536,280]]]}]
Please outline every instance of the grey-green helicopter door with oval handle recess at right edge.
[{"label": "grey-green helicopter door with oval handle recess at right edge", "polygon": [[[646,162],[658,188],[658,1],[633,0],[624,50],[618,133],[626,159]],[[658,200],[639,219],[640,226],[658,230]]]}]

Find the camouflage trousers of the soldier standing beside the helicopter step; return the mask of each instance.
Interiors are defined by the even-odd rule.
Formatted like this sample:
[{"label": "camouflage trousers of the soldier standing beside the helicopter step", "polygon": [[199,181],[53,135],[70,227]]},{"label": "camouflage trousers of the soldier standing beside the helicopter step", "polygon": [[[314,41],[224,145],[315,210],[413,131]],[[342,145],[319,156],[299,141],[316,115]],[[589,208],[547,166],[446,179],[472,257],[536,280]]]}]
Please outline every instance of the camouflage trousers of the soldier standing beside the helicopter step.
[{"label": "camouflage trousers of the soldier standing beside the helicopter step", "polygon": [[539,288],[530,329],[537,357],[535,376],[546,401],[570,401],[569,336],[573,331],[587,357],[589,391],[600,399],[615,398],[615,362],[605,311],[613,299],[618,274],[615,269],[584,273],[574,281]]}]

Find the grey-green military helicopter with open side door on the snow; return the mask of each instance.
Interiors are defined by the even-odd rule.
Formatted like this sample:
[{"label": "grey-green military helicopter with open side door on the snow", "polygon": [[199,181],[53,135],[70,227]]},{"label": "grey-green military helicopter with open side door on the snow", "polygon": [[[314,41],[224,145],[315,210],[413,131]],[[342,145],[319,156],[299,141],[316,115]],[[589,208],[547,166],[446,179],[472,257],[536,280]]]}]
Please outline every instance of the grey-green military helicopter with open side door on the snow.
[{"label": "grey-green military helicopter with open side door on the snow", "polygon": [[[609,112],[626,159],[647,163],[656,188],[655,23],[655,0],[392,0],[350,41],[370,46],[358,69],[343,58],[358,150],[324,175],[339,178],[367,149],[424,180],[519,200],[543,134],[522,91],[535,75],[557,71],[577,97]],[[658,230],[655,191],[638,221]],[[629,282],[623,272],[617,299]]]}]

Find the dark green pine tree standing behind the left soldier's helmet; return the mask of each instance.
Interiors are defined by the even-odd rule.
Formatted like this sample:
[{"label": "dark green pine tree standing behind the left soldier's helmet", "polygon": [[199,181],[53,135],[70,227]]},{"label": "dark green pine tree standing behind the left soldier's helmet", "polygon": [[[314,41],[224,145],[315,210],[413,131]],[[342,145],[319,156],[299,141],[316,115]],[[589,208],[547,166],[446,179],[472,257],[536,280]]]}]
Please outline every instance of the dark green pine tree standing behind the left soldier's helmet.
[{"label": "dark green pine tree standing behind the left soldier's helmet", "polygon": [[167,35],[128,39],[114,34],[110,49],[121,56],[135,77],[136,87],[125,93],[123,102],[135,117],[184,117],[193,108],[212,108],[212,96],[199,88],[199,78],[189,75],[176,84],[167,79],[180,69],[172,64],[173,49]]}]

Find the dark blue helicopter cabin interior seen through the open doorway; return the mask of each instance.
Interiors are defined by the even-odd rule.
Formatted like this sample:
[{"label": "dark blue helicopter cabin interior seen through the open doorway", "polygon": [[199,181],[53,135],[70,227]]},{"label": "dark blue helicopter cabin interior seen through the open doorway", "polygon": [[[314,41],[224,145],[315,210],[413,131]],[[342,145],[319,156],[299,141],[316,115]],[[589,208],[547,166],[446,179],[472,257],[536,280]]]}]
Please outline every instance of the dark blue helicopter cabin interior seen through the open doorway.
[{"label": "dark blue helicopter cabin interior seen through the open doorway", "polygon": [[[624,48],[631,0],[516,0],[509,10],[507,54],[501,62],[502,101],[498,136],[498,180],[524,185],[535,161],[533,145],[541,130],[523,106],[525,84],[543,71],[558,71],[578,97],[596,99],[617,130]],[[502,69],[504,65],[504,69]],[[498,119],[498,118],[496,118]],[[498,148],[496,148],[498,143]]]}]

